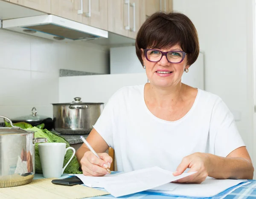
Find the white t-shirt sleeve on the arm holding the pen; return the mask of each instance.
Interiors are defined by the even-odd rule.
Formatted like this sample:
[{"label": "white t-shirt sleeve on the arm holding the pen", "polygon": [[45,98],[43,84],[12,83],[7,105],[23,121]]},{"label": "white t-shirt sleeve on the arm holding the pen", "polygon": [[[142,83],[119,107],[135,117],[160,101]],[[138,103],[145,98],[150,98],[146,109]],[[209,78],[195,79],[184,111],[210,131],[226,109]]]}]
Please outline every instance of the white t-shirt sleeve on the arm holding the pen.
[{"label": "white t-shirt sleeve on the arm holding the pen", "polygon": [[111,148],[114,148],[113,133],[115,131],[115,123],[118,117],[118,102],[120,95],[122,95],[122,88],[111,96],[96,124],[93,125],[93,128],[102,136]]}]

